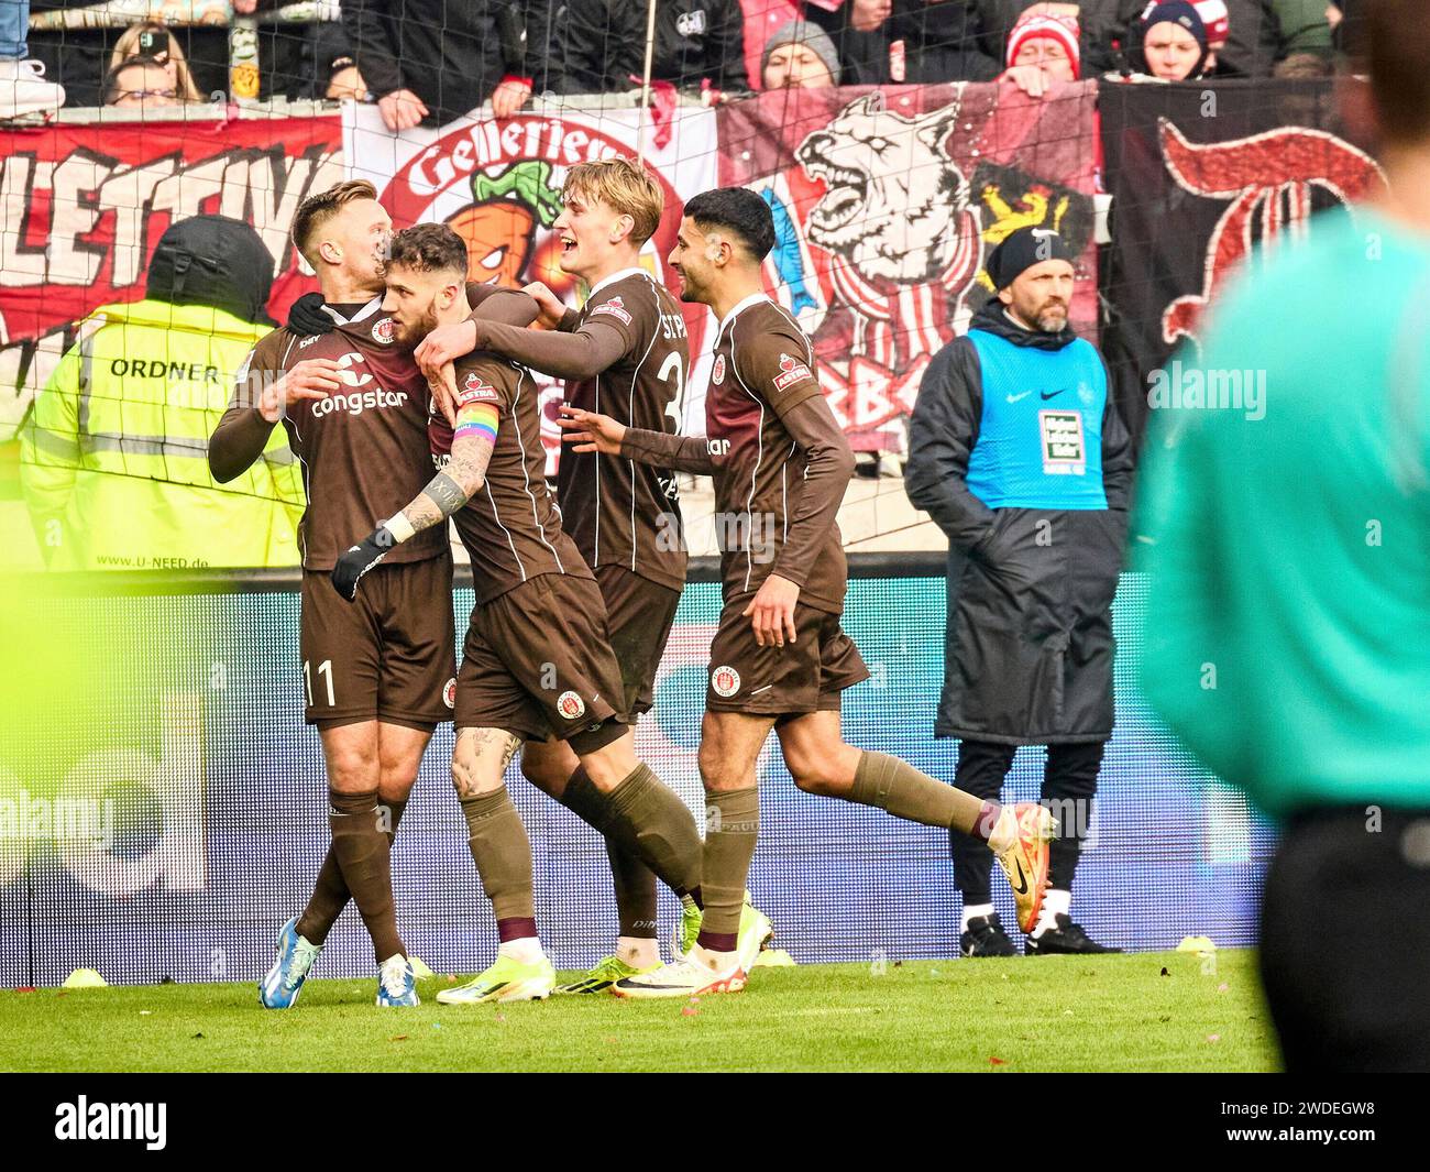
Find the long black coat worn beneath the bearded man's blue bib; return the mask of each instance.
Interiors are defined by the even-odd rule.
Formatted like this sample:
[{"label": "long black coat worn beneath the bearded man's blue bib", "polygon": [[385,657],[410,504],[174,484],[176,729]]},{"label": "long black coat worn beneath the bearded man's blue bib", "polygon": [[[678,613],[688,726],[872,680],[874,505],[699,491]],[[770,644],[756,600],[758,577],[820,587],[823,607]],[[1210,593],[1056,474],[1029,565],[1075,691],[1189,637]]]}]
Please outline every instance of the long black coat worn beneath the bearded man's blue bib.
[{"label": "long black coat worn beneath the bearded man's blue bib", "polygon": [[[1070,328],[1044,333],[1020,326],[997,299],[974,315],[971,329],[1048,353],[1077,341]],[[1110,386],[1105,368],[1103,381]],[[1105,509],[988,508],[967,482],[984,418],[978,349],[957,338],[930,363],[909,422],[904,485],[914,507],[948,535],[935,736],[1001,744],[1111,736],[1111,607],[1133,468],[1127,432],[1110,404],[1108,396],[1101,414]]]}]

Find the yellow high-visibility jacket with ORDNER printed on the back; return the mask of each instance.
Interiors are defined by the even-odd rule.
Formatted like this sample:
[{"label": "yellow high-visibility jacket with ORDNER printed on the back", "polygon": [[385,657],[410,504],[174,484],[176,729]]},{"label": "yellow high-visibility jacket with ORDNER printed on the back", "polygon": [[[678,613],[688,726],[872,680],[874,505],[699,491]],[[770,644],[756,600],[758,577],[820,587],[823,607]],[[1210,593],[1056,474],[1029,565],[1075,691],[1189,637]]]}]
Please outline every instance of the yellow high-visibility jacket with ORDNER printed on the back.
[{"label": "yellow high-visibility jacket with ORDNER printed on the back", "polygon": [[226,485],[209,435],[267,328],[202,305],[106,305],[36,396],[20,485],[51,570],[297,565],[303,482],[283,428]]}]

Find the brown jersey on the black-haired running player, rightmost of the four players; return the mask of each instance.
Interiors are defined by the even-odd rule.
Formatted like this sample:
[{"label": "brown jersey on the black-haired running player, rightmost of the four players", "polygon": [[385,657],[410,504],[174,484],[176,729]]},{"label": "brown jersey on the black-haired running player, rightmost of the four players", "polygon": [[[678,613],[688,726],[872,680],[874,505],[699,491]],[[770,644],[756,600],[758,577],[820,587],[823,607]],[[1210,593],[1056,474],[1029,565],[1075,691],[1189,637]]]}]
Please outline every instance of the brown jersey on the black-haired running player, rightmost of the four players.
[{"label": "brown jersey on the black-haired running player, rightmost of the four players", "polygon": [[[715,462],[715,522],[724,598],[754,594],[776,570],[805,491],[805,455],[784,416],[819,395],[814,348],[795,321],[764,295],[721,322],[705,394],[706,448]],[[799,601],[839,614],[848,562],[831,525]]]}]

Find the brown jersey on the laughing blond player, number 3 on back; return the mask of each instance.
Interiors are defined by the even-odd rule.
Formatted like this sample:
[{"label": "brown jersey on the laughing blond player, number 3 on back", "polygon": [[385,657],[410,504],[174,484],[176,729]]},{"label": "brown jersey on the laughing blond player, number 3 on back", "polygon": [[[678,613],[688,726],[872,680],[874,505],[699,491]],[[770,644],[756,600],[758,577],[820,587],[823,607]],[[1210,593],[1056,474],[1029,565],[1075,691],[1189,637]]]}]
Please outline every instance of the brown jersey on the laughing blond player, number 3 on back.
[{"label": "brown jersey on the laughing blond player, number 3 on back", "polygon": [[[619,329],[625,353],[595,378],[569,384],[566,402],[626,426],[678,432],[691,368],[679,302],[645,269],[625,269],[592,289],[578,325],[585,321]],[[562,524],[592,568],[622,565],[671,590],[684,588],[674,472],[568,446],[556,485]]]}]

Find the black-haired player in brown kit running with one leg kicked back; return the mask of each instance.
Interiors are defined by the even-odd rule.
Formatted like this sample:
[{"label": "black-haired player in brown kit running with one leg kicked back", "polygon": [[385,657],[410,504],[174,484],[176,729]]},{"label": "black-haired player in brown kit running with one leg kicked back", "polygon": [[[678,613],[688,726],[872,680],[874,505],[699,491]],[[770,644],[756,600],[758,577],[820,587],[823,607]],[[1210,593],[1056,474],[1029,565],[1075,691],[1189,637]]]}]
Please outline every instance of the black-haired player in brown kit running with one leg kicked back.
[{"label": "black-haired player in brown kit running with one leg kicked back", "polygon": [[765,295],[761,262],[774,240],[769,209],[754,192],[724,187],[685,205],[671,265],[681,296],[719,319],[705,438],[562,409],[578,449],[712,477],[724,535],[724,608],[699,750],[712,810],[701,871],[705,917],[684,960],[618,980],[612,992],[623,997],[745,986],[735,937],[759,826],[756,760],[771,728],[801,790],[987,841],[1025,927],[1047,886],[1045,809],[1004,809],[844,741],[839,694],[869,674],[839,627],[848,567],[835,515],[854,456],[819,391],[809,341]]}]

